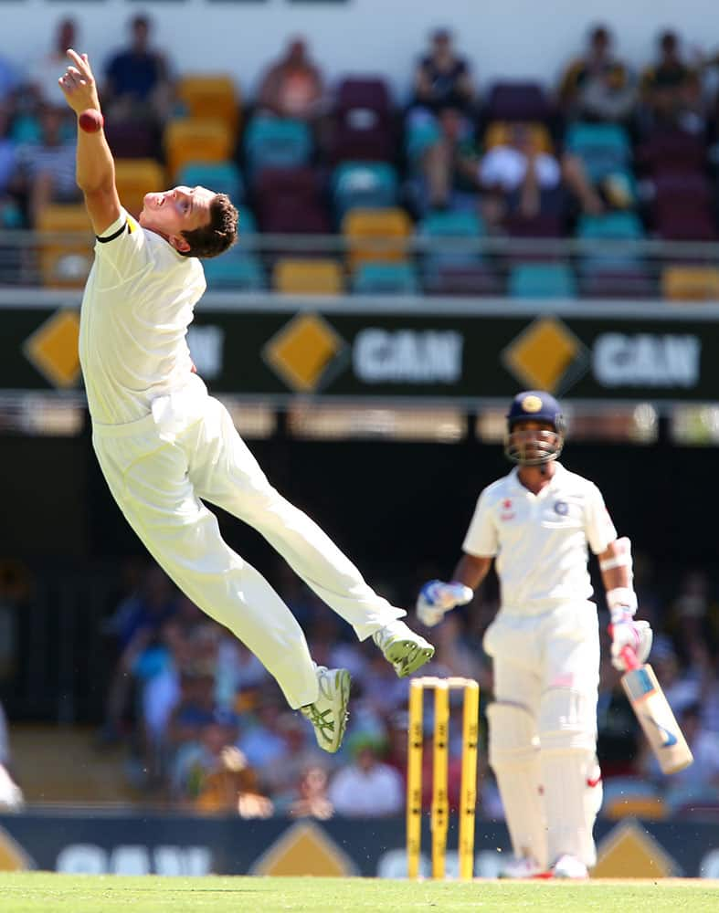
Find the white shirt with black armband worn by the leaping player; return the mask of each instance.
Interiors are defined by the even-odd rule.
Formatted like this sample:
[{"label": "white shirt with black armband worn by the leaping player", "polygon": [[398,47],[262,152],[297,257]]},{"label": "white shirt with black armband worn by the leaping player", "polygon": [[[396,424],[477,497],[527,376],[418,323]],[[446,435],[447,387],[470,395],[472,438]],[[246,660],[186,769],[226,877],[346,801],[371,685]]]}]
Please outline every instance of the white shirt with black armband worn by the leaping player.
[{"label": "white shirt with black armband worn by the leaping player", "polygon": [[205,289],[196,257],[182,257],[121,210],[97,239],[80,310],[79,361],[94,421],[142,418],[154,399],[187,383],[185,335]]}]

